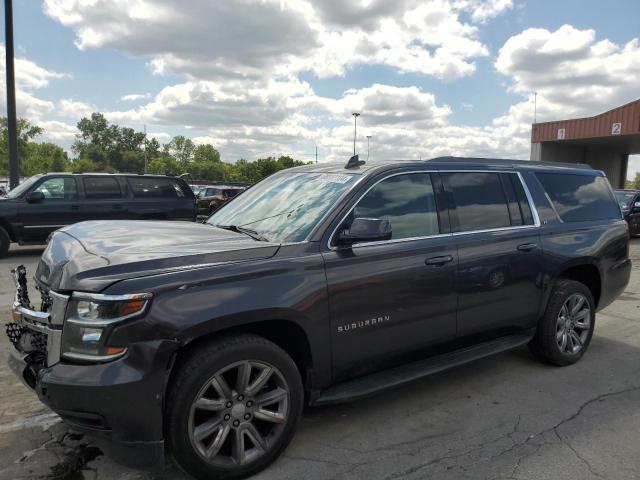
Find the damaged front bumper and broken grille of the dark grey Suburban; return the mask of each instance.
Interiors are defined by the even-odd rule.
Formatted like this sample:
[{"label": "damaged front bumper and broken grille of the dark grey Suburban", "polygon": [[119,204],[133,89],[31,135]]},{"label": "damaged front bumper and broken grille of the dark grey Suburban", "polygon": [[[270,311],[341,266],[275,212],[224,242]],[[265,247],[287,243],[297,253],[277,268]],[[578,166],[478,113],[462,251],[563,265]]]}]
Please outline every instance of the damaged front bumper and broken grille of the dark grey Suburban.
[{"label": "damaged front bumper and broken grille of the dark grey Suburban", "polygon": [[75,430],[91,437],[106,455],[150,470],[164,466],[164,387],[175,352],[171,341],[131,344],[109,363],[61,360],[64,317],[70,297],[38,288],[32,306],[26,270],[13,270],[16,296],[6,333],[15,347],[8,364],[40,401]]}]

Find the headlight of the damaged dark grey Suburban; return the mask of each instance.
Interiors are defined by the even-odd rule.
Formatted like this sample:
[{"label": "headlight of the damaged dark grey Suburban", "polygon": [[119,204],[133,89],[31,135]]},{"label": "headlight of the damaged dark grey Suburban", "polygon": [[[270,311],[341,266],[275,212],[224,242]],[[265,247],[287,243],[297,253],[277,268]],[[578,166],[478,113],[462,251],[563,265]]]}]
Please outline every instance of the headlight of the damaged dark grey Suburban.
[{"label": "headlight of the damaged dark grey Suburban", "polygon": [[126,346],[109,345],[110,330],[123,320],[142,315],[150,300],[150,293],[73,293],[62,330],[62,357],[84,362],[106,362],[124,355]]}]

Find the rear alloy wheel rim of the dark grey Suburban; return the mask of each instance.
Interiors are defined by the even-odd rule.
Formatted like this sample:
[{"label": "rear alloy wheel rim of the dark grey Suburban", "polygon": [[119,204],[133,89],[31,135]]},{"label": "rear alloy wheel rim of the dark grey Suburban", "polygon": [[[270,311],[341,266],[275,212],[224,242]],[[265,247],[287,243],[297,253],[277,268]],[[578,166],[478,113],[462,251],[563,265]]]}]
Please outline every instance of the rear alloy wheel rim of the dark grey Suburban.
[{"label": "rear alloy wheel rim of the dark grey Suburban", "polygon": [[591,307],[581,293],[574,293],[562,305],[556,321],[560,352],[575,355],[584,348],[591,328]]}]

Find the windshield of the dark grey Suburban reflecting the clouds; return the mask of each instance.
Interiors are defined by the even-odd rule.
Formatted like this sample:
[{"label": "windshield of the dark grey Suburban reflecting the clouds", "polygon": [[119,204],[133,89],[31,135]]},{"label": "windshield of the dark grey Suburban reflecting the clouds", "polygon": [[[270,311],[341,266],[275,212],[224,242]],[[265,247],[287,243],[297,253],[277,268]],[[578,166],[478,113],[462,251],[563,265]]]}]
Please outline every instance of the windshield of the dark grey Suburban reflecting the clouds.
[{"label": "windshield of the dark grey Suburban reflecting the clouds", "polygon": [[357,178],[336,173],[272,175],[218,210],[207,223],[246,226],[271,242],[300,242]]}]

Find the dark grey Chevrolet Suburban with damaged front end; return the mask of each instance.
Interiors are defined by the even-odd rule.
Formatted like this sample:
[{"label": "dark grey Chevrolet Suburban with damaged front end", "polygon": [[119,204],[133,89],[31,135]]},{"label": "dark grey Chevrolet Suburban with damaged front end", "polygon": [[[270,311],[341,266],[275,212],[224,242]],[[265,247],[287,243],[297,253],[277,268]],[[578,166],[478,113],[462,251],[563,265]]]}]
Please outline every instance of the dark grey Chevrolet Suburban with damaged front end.
[{"label": "dark grey Chevrolet Suburban with damaged front end", "polygon": [[196,478],[242,478],[280,455],[305,403],[523,345],[577,362],[630,271],[627,224],[588,167],[309,165],[206,224],[57,231],[35,273],[44,311],[16,269],[9,363],[123,463],[169,451]]}]

